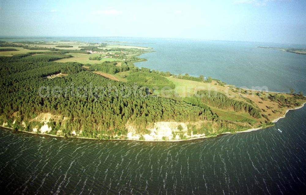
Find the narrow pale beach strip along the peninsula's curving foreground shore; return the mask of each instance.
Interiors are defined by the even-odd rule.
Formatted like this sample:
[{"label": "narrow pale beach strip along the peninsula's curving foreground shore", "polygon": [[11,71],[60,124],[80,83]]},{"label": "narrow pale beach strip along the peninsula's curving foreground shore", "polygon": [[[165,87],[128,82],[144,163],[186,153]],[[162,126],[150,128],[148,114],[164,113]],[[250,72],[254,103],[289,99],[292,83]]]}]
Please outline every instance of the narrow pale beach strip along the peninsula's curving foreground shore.
[{"label": "narrow pale beach strip along the peninsula's curving foreground shore", "polygon": [[[306,102],[305,102],[306,103]],[[281,118],[285,118],[287,112],[289,110],[296,110],[296,109],[300,109],[302,107],[304,107],[305,103],[303,103],[303,105],[301,105],[300,107],[296,107],[296,108],[290,108],[288,110],[286,110],[285,114],[281,117],[278,117],[276,119],[274,119],[272,122],[273,123],[276,123],[278,122],[279,119]],[[3,127],[3,128],[6,128],[6,129],[12,129],[10,127],[5,127],[5,126],[2,126],[0,125],[0,127]],[[266,127],[265,127],[266,128]],[[256,131],[256,130],[259,130],[259,129],[264,129],[263,127],[259,127],[259,128],[252,128],[252,129],[247,129],[245,131],[237,131],[236,133],[246,133],[246,132],[251,132],[251,131]],[[12,129],[13,130],[13,129]],[[46,133],[35,133],[35,132],[29,132],[29,131],[23,131],[23,130],[18,130],[18,131],[22,131],[22,132],[25,132],[25,133],[32,133],[32,134],[37,134],[37,135],[47,135],[47,136],[52,136],[52,137],[64,137],[64,136],[59,136],[59,135],[52,135],[52,134],[46,134]],[[222,135],[222,134],[235,134],[235,133],[231,133],[231,132],[225,132],[225,133],[219,133],[217,134],[216,136],[218,135]],[[215,136],[203,136],[203,137],[192,137],[190,139],[186,139],[186,140],[133,140],[133,139],[95,139],[95,138],[90,138],[90,137],[77,137],[77,136],[74,136],[74,137],[67,137],[67,138],[81,138],[81,139],[91,139],[91,140],[112,140],[112,141],[115,141],[115,140],[129,140],[129,141],[146,141],[146,142],[150,142],[150,141],[165,141],[165,142],[176,142],[176,141],[189,141],[189,140],[195,140],[195,139],[202,139],[202,138],[209,138],[209,137],[215,137]]]}]

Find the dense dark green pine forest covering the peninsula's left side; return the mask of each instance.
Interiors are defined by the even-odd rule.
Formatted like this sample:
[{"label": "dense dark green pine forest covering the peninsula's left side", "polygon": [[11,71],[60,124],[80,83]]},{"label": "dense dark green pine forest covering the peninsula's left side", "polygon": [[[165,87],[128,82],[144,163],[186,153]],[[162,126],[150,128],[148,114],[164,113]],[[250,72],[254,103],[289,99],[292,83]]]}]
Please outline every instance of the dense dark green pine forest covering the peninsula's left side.
[{"label": "dense dark green pine forest covering the peninsula's left side", "polygon": [[[61,130],[70,135],[75,130],[83,137],[109,138],[126,135],[127,122],[136,126],[137,131],[145,132],[148,124],[157,121],[215,118],[208,109],[152,96],[147,88],[108,80],[82,68],[80,63],[53,62],[67,57],[64,54],[0,57],[0,123],[32,131],[42,125],[32,121],[35,116],[51,113],[68,118],[50,122],[51,133]],[[48,78],[58,73],[67,76]]]}]

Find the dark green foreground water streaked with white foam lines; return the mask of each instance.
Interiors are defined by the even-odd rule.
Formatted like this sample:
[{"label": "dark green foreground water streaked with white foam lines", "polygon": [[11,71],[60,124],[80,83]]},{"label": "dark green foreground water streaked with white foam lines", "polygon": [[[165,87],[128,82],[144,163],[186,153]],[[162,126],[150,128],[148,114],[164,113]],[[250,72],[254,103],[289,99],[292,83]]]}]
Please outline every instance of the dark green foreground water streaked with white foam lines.
[{"label": "dark green foreground water streaked with white foam lines", "polygon": [[289,111],[275,127],[181,142],[63,139],[1,129],[0,187],[26,194],[302,193],[305,114],[306,107]]}]

